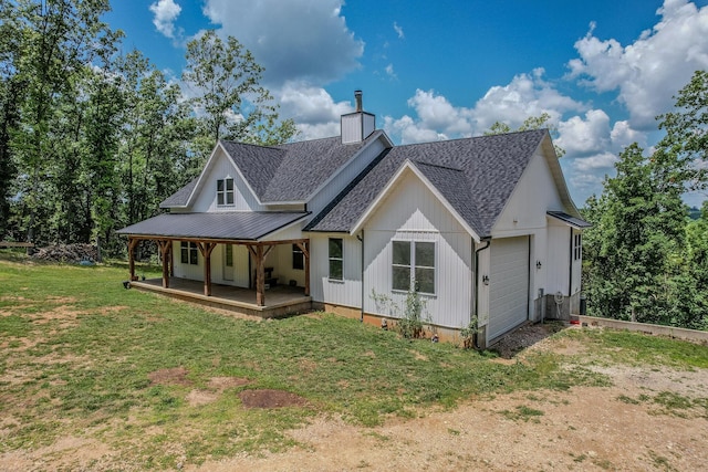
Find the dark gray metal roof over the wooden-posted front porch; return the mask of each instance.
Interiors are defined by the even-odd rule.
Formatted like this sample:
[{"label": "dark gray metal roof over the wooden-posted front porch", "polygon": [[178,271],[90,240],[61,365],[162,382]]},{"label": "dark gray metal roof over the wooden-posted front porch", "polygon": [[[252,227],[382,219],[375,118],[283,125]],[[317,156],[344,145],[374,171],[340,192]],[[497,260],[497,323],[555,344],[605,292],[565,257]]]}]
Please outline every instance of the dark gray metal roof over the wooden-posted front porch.
[{"label": "dark gray metal roof over the wooden-posted front porch", "polygon": [[164,213],[116,232],[144,237],[256,241],[308,214],[284,211]]}]

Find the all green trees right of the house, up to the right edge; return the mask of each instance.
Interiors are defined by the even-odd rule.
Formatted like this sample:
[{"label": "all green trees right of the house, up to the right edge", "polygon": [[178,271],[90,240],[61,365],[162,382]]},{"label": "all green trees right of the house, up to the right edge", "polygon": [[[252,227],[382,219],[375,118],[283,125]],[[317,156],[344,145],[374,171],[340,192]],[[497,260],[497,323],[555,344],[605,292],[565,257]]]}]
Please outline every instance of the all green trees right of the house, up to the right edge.
[{"label": "all green trees right of the house, up to the right edge", "polygon": [[708,188],[708,72],[675,98],[654,151],[624,149],[585,203],[583,285],[589,314],[708,329],[708,200],[698,219],[681,200]]}]

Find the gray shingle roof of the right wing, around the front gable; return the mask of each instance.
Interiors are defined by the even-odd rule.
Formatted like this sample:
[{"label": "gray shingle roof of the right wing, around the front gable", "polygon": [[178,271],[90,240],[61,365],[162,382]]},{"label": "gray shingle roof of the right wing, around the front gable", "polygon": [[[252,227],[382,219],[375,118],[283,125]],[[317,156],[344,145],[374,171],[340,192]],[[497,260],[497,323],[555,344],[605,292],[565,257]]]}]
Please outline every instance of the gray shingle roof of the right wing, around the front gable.
[{"label": "gray shingle roof of the right wing, around the front gable", "polygon": [[400,166],[410,160],[480,237],[488,237],[546,135],[539,129],[394,147],[305,230],[348,232]]}]

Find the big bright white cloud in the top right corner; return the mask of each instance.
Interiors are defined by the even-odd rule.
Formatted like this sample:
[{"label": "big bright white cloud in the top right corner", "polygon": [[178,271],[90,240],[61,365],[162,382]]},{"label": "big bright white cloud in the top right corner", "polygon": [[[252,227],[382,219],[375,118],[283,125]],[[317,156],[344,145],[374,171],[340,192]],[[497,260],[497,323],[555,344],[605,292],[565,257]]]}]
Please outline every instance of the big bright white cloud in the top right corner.
[{"label": "big bright white cloud in the top right corner", "polygon": [[632,126],[655,128],[656,115],[668,111],[697,70],[708,67],[708,7],[665,0],[662,20],[627,46],[594,36],[594,25],[575,43],[580,55],[569,62],[570,77],[597,92],[618,91]]}]

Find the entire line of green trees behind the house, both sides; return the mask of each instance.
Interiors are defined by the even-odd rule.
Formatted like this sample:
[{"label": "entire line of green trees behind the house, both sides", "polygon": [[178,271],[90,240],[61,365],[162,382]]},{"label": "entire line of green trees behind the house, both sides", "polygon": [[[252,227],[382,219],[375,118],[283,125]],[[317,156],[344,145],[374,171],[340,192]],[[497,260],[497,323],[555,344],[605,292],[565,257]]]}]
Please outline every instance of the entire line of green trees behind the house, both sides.
[{"label": "entire line of green trees behind the house, both sides", "polygon": [[[94,243],[159,212],[218,139],[278,144],[296,135],[235,38],[188,43],[180,83],[101,20],[108,0],[0,0],[0,240]],[[548,126],[531,117],[523,129]],[[582,213],[590,314],[708,329],[708,73],[658,117],[665,138],[632,145]],[[489,134],[507,133],[497,123]],[[552,130],[553,132],[553,130]],[[563,149],[556,147],[559,157]]]}]

